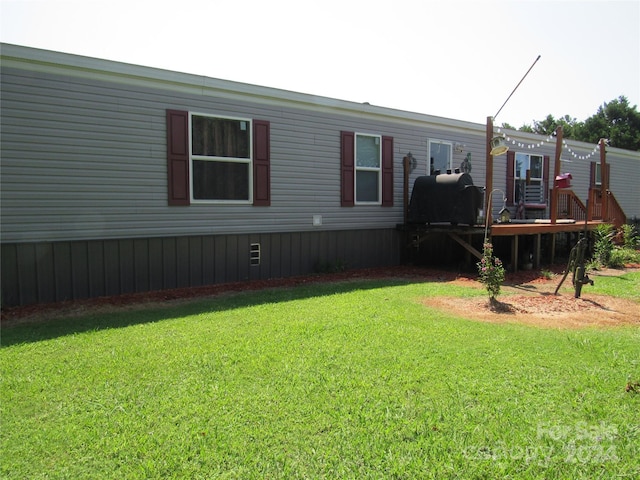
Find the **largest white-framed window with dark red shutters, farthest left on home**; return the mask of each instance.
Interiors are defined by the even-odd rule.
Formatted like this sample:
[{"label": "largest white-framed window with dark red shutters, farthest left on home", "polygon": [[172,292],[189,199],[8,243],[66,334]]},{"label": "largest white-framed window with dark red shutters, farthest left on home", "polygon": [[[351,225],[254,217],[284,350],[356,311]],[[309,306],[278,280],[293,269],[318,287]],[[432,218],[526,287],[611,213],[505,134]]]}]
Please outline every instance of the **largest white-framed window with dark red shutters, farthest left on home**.
[{"label": "largest white-framed window with dark red shutters, farthest left on home", "polygon": [[189,133],[191,201],[251,203],[251,119],[191,113]]}]

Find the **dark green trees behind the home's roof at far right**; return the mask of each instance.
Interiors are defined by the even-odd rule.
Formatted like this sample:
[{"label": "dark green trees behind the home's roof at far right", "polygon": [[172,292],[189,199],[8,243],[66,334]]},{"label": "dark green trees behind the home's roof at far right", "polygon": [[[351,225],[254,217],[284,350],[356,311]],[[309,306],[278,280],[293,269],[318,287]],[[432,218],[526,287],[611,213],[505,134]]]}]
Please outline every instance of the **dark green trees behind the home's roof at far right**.
[{"label": "dark green trees behind the home's roof at far right", "polygon": [[[525,124],[517,130],[550,135],[561,125],[564,138],[588,143],[598,143],[601,138],[608,138],[612,147],[640,150],[640,112],[636,108],[636,105],[629,105],[629,100],[626,97],[620,96],[610,102],[605,102],[598,107],[595,115],[583,122],[579,122],[569,115],[561,118],[547,115],[544,120],[534,120],[533,125]],[[503,123],[502,127],[516,130],[508,123]]]}]

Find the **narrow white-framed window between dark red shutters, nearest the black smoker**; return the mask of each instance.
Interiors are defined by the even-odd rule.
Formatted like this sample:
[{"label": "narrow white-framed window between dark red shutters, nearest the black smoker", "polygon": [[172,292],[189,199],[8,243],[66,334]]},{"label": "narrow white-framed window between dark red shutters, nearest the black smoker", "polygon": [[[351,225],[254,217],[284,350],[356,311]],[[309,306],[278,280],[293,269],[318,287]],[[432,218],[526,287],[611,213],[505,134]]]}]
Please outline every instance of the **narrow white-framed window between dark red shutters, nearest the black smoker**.
[{"label": "narrow white-framed window between dark red shutters, nearest the black smoker", "polygon": [[382,199],[382,137],[355,134],[355,203],[380,205]]}]

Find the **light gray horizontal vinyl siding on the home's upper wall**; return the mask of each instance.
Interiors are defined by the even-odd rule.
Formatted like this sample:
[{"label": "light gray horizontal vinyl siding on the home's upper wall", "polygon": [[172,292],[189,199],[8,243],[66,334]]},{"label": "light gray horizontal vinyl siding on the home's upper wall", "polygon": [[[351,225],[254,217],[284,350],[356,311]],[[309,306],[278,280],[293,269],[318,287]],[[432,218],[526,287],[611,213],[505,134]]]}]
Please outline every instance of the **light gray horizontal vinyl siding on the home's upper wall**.
[{"label": "light gray horizontal vinyl siding on the home's upper wall", "polygon": [[[403,219],[402,157],[412,152],[418,162],[411,186],[427,173],[429,138],[463,145],[454,167],[471,153],[471,175],[484,185],[485,125],[20,47],[5,54],[4,243],[394,228]],[[271,206],[169,207],[166,109],[268,120]],[[340,206],[341,130],[393,137],[393,207]],[[554,147],[542,152],[551,168]],[[501,158],[493,185],[505,190]],[[640,155],[610,148],[607,160],[611,190],[629,217],[640,216]],[[583,200],[589,163],[563,164]]]}]

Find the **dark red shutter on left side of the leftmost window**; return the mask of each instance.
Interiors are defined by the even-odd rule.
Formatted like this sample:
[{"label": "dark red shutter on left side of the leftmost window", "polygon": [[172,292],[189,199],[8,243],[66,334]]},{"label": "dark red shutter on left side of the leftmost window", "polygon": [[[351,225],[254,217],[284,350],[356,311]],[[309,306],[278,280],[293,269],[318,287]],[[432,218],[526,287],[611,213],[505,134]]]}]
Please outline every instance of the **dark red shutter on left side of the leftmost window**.
[{"label": "dark red shutter on left side of the leftmost window", "polygon": [[167,110],[169,205],[189,205],[189,112]]}]

